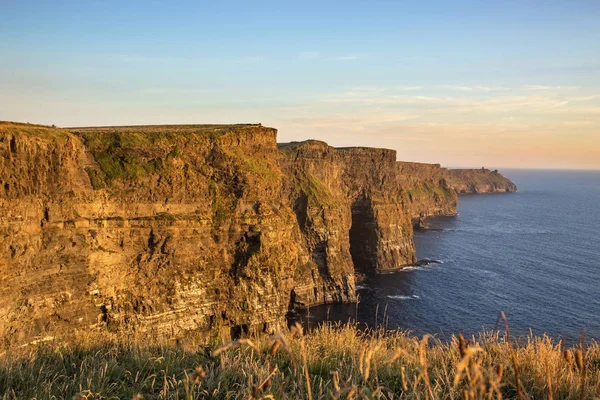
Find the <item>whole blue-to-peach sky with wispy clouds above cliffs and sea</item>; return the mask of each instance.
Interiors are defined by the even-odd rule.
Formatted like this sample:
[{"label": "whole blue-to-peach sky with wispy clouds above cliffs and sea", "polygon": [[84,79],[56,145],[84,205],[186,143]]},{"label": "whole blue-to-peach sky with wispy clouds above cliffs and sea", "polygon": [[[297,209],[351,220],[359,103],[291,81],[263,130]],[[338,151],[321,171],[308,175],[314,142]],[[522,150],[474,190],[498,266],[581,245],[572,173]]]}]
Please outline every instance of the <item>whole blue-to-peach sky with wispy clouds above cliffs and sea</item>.
[{"label": "whole blue-to-peach sky with wispy clouds above cliffs and sea", "polygon": [[0,0],[0,120],[600,169],[600,0]]}]

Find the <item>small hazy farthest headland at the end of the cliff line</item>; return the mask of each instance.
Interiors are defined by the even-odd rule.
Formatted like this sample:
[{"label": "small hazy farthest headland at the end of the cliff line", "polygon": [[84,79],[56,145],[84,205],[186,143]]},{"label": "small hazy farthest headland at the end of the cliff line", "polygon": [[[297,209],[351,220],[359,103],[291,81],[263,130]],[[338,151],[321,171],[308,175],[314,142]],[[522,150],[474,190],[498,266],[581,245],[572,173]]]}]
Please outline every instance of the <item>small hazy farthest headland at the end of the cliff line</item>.
[{"label": "small hazy farthest headland at the end of the cliff line", "polygon": [[514,193],[517,186],[497,170],[450,169],[447,170],[448,185],[457,193]]}]

